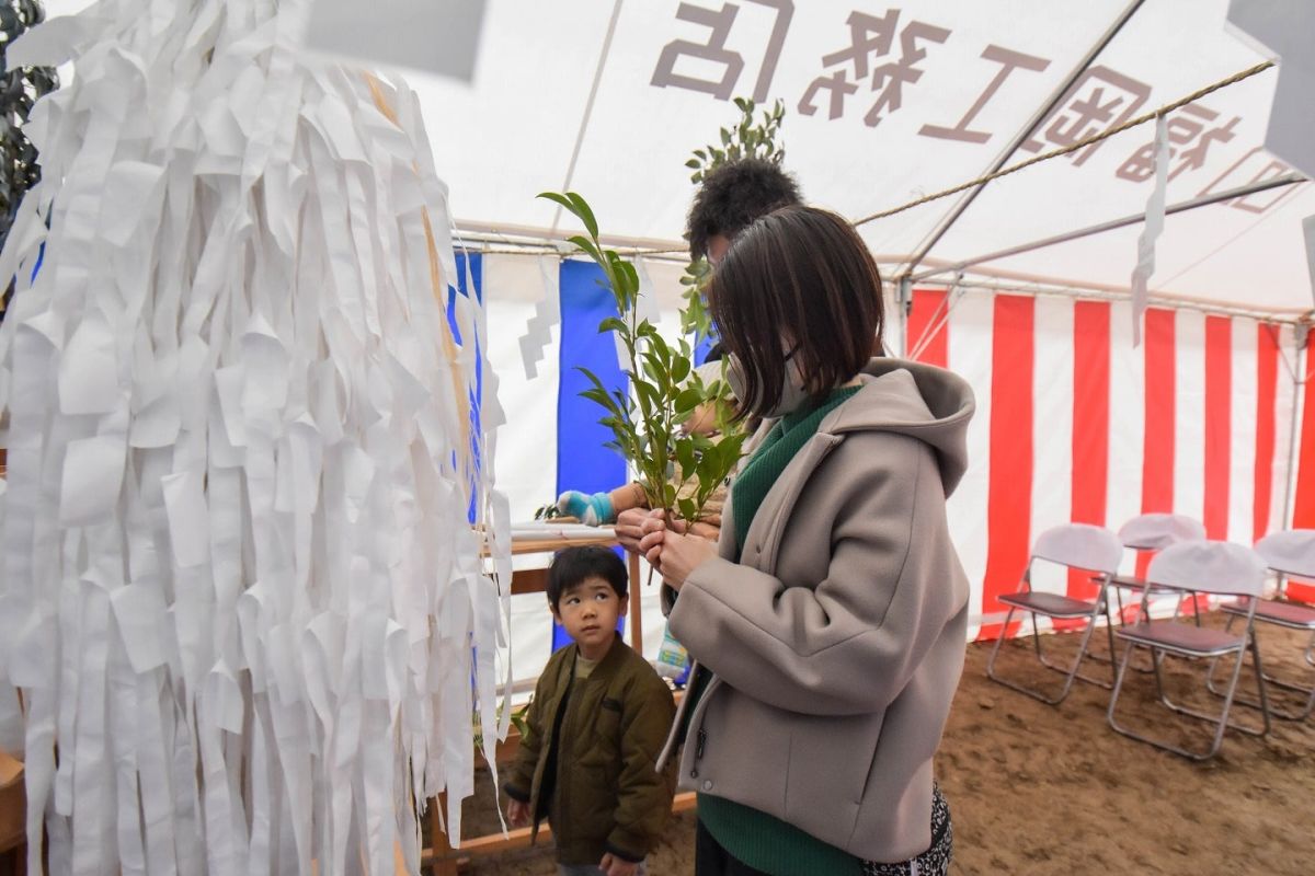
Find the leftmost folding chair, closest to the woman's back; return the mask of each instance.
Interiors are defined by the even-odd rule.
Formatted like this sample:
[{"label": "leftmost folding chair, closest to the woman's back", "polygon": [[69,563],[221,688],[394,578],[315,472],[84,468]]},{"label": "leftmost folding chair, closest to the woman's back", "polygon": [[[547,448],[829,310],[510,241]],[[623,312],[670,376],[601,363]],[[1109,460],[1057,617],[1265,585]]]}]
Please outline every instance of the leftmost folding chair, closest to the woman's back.
[{"label": "leftmost folding chair, closest to the woman's back", "polygon": [[[1111,682],[1102,682],[1101,679],[1082,675],[1078,668],[1082,665],[1082,658],[1086,657],[1086,646],[1091,641],[1091,633],[1095,630],[1095,620],[1101,615],[1105,616],[1106,634],[1110,637],[1110,653],[1114,653],[1114,634],[1111,632],[1110,607],[1106,596],[1110,578],[1115,571],[1118,571],[1119,558],[1122,556],[1123,546],[1119,544],[1119,540],[1114,536],[1114,533],[1105,527],[1072,523],[1063,527],[1055,527],[1053,529],[1047,529],[1038,536],[1036,544],[1032,546],[1032,556],[1027,561],[1027,569],[1023,570],[1023,582],[1019,591],[1016,594],[999,598],[999,602],[1009,605],[1009,615],[1005,617],[1003,629],[1009,629],[1009,623],[1014,619],[1015,611],[1028,612],[1032,616],[1032,646],[1036,649],[1036,659],[1040,661],[1045,668],[1064,675],[1064,687],[1060,690],[1057,696],[1051,697],[1043,691],[1026,687],[997,675],[995,658],[999,655],[999,647],[1005,641],[1003,634],[995,640],[995,647],[992,649],[990,659],[986,662],[986,676],[993,682],[999,682],[1005,687],[1014,688],[1020,693],[1026,693],[1040,700],[1041,703],[1048,703],[1049,705],[1057,705],[1065,696],[1068,696],[1069,690],[1073,687],[1073,679],[1080,678],[1084,682],[1099,684],[1101,687],[1110,690],[1112,682],[1112,665],[1110,667]],[[1060,594],[1047,594],[1032,590],[1032,565],[1038,559],[1068,566],[1069,569],[1098,573],[1095,580],[1099,584],[1099,591],[1097,592],[1095,599],[1073,599]],[[1044,615],[1051,619],[1059,617],[1061,620],[1086,620],[1086,629],[1082,630],[1082,641],[1078,644],[1077,655],[1074,655],[1073,665],[1068,668],[1056,666],[1051,661],[1045,659],[1045,654],[1041,651],[1041,636],[1036,629],[1038,615]]]}]

